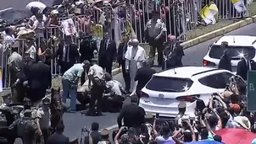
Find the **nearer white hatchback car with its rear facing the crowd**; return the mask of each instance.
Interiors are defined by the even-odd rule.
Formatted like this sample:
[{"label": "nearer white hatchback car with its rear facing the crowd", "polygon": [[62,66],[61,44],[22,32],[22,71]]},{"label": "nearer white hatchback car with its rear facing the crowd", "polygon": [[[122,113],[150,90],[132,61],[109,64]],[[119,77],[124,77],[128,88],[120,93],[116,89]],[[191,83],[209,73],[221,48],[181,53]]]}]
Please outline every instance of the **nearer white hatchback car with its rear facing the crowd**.
[{"label": "nearer white hatchback car with its rear facing the crowd", "polygon": [[232,76],[232,72],[211,67],[177,67],[155,73],[142,88],[139,106],[146,113],[175,118],[178,104],[185,101],[185,115],[191,115],[196,108],[194,97],[208,104],[211,94],[223,92]]}]

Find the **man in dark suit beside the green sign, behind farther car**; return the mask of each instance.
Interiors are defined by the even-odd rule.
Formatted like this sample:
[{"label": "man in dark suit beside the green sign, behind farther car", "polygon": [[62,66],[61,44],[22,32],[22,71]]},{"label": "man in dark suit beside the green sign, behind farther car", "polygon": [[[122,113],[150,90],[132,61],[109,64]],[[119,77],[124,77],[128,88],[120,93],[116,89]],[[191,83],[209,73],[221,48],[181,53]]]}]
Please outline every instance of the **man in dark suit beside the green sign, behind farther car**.
[{"label": "man in dark suit beside the green sign, behind farther car", "polygon": [[248,80],[248,71],[252,70],[251,62],[253,61],[249,59],[248,54],[244,54],[244,58],[237,64],[237,75],[245,81]]}]

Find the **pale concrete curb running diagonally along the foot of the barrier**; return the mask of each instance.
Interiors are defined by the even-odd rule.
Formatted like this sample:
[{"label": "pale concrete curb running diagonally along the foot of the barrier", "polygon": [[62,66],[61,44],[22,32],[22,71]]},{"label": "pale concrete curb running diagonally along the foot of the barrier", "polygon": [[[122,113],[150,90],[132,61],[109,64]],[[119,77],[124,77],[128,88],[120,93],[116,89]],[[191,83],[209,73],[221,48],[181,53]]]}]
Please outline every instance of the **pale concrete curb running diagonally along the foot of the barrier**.
[{"label": "pale concrete curb running diagonally along the foot of the barrier", "polygon": [[[192,40],[187,40],[183,43],[181,43],[181,45],[183,46],[183,49],[188,49],[189,47],[193,46],[193,45],[198,45],[200,43],[203,43],[204,41],[207,41],[207,40],[211,40],[217,36],[220,36],[220,35],[224,35],[226,33],[229,33],[235,29],[239,29],[239,28],[242,28],[248,24],[253,24],[254,22],[256,22],[256,15],[253,15],[252,17],[250,18],[247,18],[247,19],[244,19],[244,20],[240,20],[234,24],[230,24],[230,25],[227,25],[221,29],[217,29],[217,30],[214,30],[214,31],[211,31],[209,32],[208,34],[205,34],[205,35],[200,35],[198,36],[197,38],[195,39],[192,39]],[[156,54],[157,55],[157,54]],[[117,75],[119,74],[121,71],[121,68],[115,68],[113,71],[112,71],[112,75]]]}]

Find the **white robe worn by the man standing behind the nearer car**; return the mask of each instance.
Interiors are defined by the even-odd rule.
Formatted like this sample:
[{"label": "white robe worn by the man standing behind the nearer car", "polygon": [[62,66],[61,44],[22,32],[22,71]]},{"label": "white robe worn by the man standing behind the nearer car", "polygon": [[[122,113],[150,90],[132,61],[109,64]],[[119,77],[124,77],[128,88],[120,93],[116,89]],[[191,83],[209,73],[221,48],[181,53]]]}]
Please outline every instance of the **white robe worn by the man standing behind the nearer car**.
[{"label": "white robe worn by the man standing behind the nearer car", "polygon": [[136,71],[142,67],[142,62],[147,58],[146,51],[142,46],[138,45],[136,48],[128,46],[125,52],[125,69],[129,70],[131,78],[131,88],[135,87]]}]

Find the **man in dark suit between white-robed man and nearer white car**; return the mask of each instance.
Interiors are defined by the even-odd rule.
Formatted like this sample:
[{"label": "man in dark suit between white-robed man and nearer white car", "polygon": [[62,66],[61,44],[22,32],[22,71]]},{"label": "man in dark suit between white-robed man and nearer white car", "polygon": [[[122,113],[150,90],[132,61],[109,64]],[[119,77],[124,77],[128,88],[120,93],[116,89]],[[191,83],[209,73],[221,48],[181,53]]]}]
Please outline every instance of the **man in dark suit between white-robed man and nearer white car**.
[{"label": "man in dark suit between white-robed man and nearer white car", "polygon": [[149,63],[147,61],[143,61],[143,67],[139,68],[136,72],[135,81],[138,81],[136,86],[136,95],[140,99],[140,91],[147,84],[147,82],[153,76],[153,73],[156,71],[149,67]]}]

